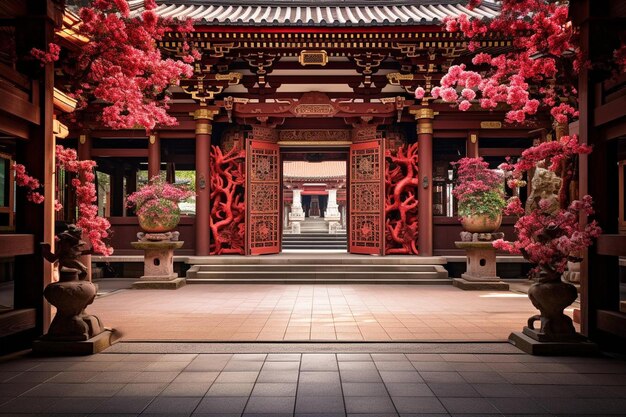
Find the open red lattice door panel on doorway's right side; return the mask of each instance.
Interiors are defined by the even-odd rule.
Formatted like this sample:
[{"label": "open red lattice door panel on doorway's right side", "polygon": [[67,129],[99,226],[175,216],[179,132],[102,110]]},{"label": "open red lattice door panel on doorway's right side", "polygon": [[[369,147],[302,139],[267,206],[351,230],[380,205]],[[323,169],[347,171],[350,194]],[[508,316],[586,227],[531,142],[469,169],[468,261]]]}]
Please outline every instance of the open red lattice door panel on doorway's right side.
[{"label": "open red lattice door panel on doorway's right side", "polygon": [[350,253],[384,254],[384,168],[382,141],[350,146]]}]

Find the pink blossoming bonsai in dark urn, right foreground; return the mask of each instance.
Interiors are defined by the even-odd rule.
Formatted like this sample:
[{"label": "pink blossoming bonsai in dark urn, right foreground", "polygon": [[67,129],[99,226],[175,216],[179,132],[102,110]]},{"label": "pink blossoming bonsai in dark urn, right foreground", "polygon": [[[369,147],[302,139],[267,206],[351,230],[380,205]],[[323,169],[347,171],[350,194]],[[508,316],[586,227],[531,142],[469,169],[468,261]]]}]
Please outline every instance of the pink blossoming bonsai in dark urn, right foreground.
[{"label": "pink blossoming bonsai in dark urn, right foreground", "polygon": [[[561,190],[558,206],[550,198],[541,198],[534,206],[524,210],[517,197],[509,200],[506,214],[517,215],[515,224],[517,240],[496,240],[493,246],[514,254],[521,254],[534,268],[531,277],[535,283],[528,297],[540,311],[540,315],[528,320],[524,333],[539,341],[564,341],[577,339],[572,319],[563,310],[577,297],[576,288],[561,279],[568,261],[580,261],[577,254],[591,245],[602,230],[595,221],[582,226],[581,217],[593,214],[591,196],[570,201],[569,189],[573,167],[579,154],[587,154],[591,148],[578,143],[576,136],[563,136],[559,141],[544,142],[522,153],[515,164],[505,163],[511,187],[525,185],[523,176],[538,164],[547,162],[550,171],[560,173]],[[539,329],[534,323],[540,321]]]}]

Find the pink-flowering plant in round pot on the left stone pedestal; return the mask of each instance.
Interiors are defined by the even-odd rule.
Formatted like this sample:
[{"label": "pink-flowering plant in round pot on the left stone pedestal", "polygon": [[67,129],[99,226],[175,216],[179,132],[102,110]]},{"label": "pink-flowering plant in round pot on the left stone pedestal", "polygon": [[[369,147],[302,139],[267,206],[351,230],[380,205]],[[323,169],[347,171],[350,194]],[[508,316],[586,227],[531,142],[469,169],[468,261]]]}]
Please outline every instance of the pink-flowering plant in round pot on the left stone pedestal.
[{"label": "pink-flowering plant in round pot on the left stone pedestal", "polygon": [[159,177],[150,179],[128,196],[130,207],[136,208],[139,226],[148,233],[163,233],[173,230],[180,221],[181,203],[194,193],[185,187],[169,184]]}]

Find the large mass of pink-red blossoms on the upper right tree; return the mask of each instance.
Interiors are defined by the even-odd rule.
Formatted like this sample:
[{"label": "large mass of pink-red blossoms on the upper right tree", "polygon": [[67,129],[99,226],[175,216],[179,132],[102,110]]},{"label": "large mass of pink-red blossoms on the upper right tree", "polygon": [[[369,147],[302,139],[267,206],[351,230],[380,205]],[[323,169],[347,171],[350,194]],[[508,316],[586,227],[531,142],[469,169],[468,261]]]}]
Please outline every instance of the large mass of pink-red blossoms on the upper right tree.
[{"label": "large mass of pink-red blossoms on the upper right tree", "polygon": [[[472,0],[469,8],[481,2]],[[497,55],[478,53],[472,60],[475,71],[466,70],[464,65],[451,66],[440,87],[433,88],[431,94],[458,104],[462,111],[469,110],[475,99],[483,109],[506,104],[510,108],[506,120],[523,123],[537,113],[540,105],[554,106],[560,97],[573,100],[573,84],[563,80],[562,75],[573,72],[570,70],[576,59],[576,32],[568,22],[566,2],[503,0],[500,6],[500,13],[493,19],[460,15],[446,19],[445,28],[465,35],[472,51],[481,47],[487,33],[510,38],[512,48]],[[555,83],[559,76],[557,69],[564,71]],[[462,91],[460,95],[459,91]],[[555,113],[557,121],[563,123],[577,116],[575,111],[565,108]]]}]

